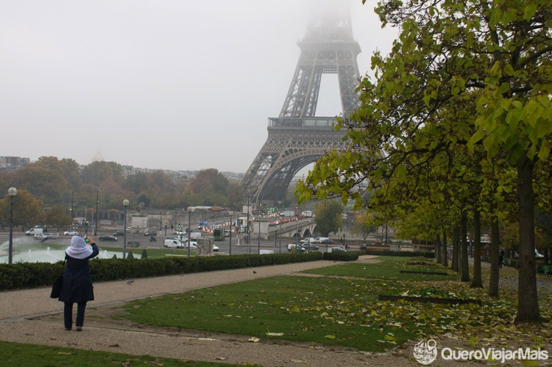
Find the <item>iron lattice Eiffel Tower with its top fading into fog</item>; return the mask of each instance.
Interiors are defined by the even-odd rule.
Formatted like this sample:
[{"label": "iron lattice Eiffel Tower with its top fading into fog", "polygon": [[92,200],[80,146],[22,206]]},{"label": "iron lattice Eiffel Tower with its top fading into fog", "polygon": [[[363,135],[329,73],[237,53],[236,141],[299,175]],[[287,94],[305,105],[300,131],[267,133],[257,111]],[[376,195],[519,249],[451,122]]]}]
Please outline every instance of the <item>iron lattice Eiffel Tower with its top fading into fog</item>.
[{"label": "iron lattice Eiffel Tower with its top fading into fog", "polygon": [[300,169],[328,150],[348,147],[342,140],[345,132],[333,130],[335,116],[315,113],[322,74],[337,74],[344,116],[358,107],[360,46],[353,39],[346,1],[333,0],[329,7],[321,6],[324,1],[315,3],[305,37],[297,43],[301,54],[282,111],[268,118],[268,138],[242,180],[253,202],[284,200]]}]

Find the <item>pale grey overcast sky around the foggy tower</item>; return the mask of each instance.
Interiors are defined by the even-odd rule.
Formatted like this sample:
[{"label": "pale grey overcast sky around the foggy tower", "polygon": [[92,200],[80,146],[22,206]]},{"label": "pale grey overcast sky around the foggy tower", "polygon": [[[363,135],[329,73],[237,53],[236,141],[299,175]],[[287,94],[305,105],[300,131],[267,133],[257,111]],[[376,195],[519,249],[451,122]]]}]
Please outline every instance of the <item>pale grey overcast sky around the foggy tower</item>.
[{"label": "pale grey overcast sky around the foggy tower", "polygon": [[[395,38],[374,5],[351,0],[361,75]],[[245,172],[282,109],[310,6],[0,1],[0,156]],[[320,94],[317,116],[341,112],[337,76]]]}]

